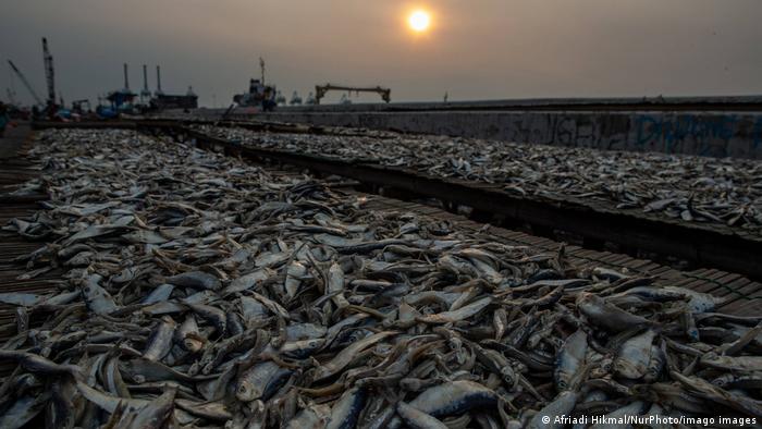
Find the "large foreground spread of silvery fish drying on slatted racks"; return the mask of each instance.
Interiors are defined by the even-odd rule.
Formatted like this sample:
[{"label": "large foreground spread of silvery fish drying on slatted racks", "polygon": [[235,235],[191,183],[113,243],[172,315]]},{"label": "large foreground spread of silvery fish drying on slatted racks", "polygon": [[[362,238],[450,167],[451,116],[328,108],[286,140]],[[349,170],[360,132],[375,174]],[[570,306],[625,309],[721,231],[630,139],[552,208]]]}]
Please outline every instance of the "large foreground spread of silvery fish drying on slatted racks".
[{"label": "large foreground spread of silvery fish drying on slatted racks", "polygon": [[0,293],[2,428],[762,417],[761,318],[710,295],[128,131],[33,154],[51,199],[4,229],[45,243],[26,275],[66,281]]}]

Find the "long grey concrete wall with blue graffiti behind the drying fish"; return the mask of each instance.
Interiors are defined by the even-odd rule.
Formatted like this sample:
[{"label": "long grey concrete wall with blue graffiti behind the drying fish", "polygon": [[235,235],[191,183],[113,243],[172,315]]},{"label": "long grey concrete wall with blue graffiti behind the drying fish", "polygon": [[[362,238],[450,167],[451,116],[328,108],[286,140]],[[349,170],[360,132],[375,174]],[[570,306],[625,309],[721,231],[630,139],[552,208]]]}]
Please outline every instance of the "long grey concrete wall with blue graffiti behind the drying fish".
[{"label": "long grey concrete wall with blue graffiti behind the drying fish", "polygon": [[758,112],[283,111],[239,118],[599,149],[762,159],[762,113]]}]

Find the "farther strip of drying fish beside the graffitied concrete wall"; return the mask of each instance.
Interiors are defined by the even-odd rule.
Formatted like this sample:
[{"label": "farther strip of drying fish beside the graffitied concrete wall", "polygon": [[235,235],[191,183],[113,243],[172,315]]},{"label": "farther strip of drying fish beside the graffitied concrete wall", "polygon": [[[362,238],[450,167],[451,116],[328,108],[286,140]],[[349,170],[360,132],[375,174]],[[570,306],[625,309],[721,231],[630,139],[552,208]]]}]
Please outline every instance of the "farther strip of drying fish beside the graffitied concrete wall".
[{"label": "farther strip of drying fish beside the graffitied concrete wall", "polygon": [[610,203],[686,222],[762,235],[762,162],[409,136],[260,134],[195,125],[211,136],[281,150],[378,162],[445,177],[504,184],[523,196]]}]

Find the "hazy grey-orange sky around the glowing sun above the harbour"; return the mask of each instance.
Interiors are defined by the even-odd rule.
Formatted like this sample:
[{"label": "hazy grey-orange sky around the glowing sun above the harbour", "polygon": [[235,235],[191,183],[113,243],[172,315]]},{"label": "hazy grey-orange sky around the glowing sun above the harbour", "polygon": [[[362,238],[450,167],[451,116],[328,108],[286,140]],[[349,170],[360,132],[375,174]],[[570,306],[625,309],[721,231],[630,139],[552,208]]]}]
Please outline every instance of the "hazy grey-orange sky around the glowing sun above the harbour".
[{"label": "hazy grey-orange sky around the glowing sun above the harbour", "polygon": [[761,16],[760,0],[0,0],[0,99],[30,100],[8,58],[45,95],[42,36],[67,101],[122,87],[127,62],[134,90],[160,63],[165,93],[226,106],[259,56],[287,98],[325,82],[395,101],[761,94]]}]

